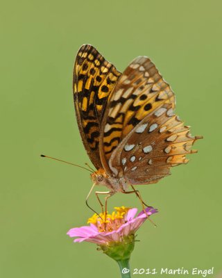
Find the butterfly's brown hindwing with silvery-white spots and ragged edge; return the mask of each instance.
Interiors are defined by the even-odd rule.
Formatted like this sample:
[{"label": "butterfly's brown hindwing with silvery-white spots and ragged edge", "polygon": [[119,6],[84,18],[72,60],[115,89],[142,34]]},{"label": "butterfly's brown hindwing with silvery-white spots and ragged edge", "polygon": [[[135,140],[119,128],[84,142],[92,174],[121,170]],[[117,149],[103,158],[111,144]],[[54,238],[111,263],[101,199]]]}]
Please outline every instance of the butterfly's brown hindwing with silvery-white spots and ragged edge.
[{"label": "butterfly's brown hindwing with silvery-white spots and ragged edge", "polygon": [[[186,155],[195,152],[191,147],[196,139],[189,126],[164,105],[138,124],[128,138],[120,156],[123,175],[133,184],[155,183],[170,174],[170,167],[188,162]],[[128,146],[133,148],[128,150]]]}]

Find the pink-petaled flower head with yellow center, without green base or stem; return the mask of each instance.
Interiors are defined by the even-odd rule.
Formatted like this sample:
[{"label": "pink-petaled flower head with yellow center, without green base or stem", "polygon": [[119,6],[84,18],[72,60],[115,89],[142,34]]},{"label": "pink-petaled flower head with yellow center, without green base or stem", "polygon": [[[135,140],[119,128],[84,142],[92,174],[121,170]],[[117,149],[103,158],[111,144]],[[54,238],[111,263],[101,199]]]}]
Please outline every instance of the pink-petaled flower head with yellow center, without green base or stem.
[{"label": "pink-petaled flower head with yellow center, without green base or stem", "polygon": [[[112,243],[124,243],[133,236],[139,227],[146,221],[147,215],[157,213],[157,209],[147,207],[146,213],[141,211],[137,216],[137,208],[124,206],[115,208],[112,214],[94,214],[89,218],[89,226],[72,228],[67,232],[71,238],[76,237],[75,243],[87,241],[97,245],[110,245]],[[106,220],[106,221],[105,221]],[[134,240],[133,240],[134,241]]]}]

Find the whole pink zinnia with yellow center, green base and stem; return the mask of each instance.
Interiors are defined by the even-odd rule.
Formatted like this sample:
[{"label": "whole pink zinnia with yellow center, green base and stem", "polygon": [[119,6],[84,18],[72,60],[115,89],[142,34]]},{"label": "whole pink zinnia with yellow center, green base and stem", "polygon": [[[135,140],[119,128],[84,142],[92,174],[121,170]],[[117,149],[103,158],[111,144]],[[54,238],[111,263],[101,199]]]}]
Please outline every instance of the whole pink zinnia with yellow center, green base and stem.
[{"label": "whole pink zinnia with yellow center, green base and stem", "polygon": [[157,213],[153,207],[147,207],[145,211],[136,216],[137,208],[116,207],[111,214],[94,214],[88,219],[89,226],[70,229],[67,234],[76,238],[75,243],[87,241],[99,245],[100,250],[117,261],[121,276],[130,278],[129,261],[135,245],[135,232],[148,216]]}]

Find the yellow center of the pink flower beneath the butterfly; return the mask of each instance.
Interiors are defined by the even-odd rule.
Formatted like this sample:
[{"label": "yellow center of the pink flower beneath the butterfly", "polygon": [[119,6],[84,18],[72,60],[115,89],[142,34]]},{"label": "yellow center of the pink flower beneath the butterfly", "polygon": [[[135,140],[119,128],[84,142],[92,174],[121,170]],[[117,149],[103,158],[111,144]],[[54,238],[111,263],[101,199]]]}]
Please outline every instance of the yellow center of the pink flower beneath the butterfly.
[{"label": "yellow center of the pink flower beneath the butterfly", "polygon": [[126,215],[130,208],[126,206],[114,207],[115,211],[112,213],[100,213],[97,215],[94,213],[91,218],[88,219],[87,223],[94,224],[98,231],[114,231],[119,229],[122,224],[126,223]]}]

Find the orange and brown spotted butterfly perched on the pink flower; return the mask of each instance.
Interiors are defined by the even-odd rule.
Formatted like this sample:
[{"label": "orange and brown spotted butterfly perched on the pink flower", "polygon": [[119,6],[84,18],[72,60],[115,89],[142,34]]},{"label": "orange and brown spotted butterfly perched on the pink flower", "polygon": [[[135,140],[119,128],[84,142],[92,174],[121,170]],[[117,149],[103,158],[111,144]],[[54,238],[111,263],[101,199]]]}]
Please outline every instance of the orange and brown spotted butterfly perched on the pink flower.
[{"label": "orange and brown spotted butterfly perched on the pink flower", "polygon": [[92,181],[108,188],[97,197],[133,192],[141,198],[134,185],[157,183],[197,152],[191,147],[203,137],[191,136],[173,112],[175,95],[146,56],[121,73],[92,45],[83,44],[73,88],[80,136],[96,167]]}]

